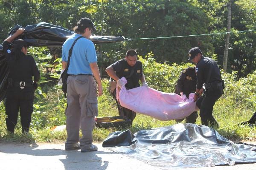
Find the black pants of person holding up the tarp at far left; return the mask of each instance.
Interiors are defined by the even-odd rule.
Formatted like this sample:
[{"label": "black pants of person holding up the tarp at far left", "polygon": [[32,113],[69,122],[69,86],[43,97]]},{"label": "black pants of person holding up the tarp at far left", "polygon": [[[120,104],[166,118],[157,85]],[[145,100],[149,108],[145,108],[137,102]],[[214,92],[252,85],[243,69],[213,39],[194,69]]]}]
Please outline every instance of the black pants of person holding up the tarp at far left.
[{"label": "black pants of person holding up the tarp at far left", "polygon": [[7,130],[14,133],[17,124],[18,112],[22,132],[29,131],[31,115],[33,112],[34,91],[32,88],[8,88],[6,94],[6,126]]}]

